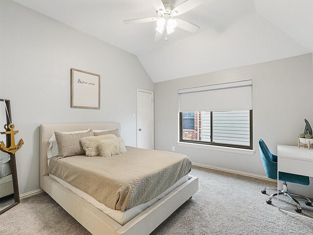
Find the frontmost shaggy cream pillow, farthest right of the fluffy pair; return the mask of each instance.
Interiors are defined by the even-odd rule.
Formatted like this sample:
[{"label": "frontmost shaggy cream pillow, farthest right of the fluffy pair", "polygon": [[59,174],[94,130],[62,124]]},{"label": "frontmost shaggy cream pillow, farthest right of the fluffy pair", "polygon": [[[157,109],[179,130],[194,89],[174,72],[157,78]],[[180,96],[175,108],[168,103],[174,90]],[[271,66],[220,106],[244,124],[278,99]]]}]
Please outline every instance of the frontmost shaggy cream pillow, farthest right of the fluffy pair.
[{"label": "frontmost shaggy cream pillow, farthest right of the fluffy pair", "polygon": [[127,152],[125,143],[120,137],[101,140],[98,148],[101,157],[110,157]]}]

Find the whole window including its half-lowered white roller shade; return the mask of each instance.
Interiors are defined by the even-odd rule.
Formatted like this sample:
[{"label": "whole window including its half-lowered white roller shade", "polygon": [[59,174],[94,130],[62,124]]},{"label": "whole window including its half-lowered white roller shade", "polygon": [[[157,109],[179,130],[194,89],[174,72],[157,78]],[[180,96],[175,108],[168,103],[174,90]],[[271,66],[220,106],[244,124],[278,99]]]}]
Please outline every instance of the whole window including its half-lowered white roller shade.
[{"label": "whole window including its half-lowered white roller shade", "polygon": [[179,141],[252,149],[252,81],[178,90]]}]

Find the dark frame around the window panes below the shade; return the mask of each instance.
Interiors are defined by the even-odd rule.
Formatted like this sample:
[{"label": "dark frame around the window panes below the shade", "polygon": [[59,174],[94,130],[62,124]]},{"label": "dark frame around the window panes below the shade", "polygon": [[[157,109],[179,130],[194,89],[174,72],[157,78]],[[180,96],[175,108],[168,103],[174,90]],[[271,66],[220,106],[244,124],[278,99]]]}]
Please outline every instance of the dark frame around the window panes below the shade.
[{"label": "dark frame around the window panes below the shade", "polygon": [[[200,111],[199,111],[200,112]],[[252,110],[249,110],[249,129],[250,129],[250,145],[246,146],[246,145],[239,145],[239,144],[227,144],[227,143],[216,143],[213,142],[213,112],[210,112],[210,139],[211,141],[189,141],[189,140],[183,140],[183,128],[182,128],[182,112],[179,112],[179,142],[187,142],[187,143],[199,143],[199,144],[203,144],[203,145],[214,145],[214,146],[223,146],[223,147],[231,147],[231,148],[243,148],[243,149],[253,149],[253,112]],[[216,111],[218,112],[218,111]],[[198,130],[199,132],[199,130]]]}]

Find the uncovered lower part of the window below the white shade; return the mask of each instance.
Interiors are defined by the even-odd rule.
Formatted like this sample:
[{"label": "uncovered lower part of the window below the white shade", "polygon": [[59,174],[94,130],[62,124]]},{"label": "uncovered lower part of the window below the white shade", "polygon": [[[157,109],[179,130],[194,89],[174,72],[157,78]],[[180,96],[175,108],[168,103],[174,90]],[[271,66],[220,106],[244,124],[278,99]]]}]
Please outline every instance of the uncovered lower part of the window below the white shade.
[{"label": "uncovered lower part of the window below the white shade", "polygon": [[[192,132],[186,116],[194,117]],[[179,141],[252,149],[252,110],[181,112]]]}]

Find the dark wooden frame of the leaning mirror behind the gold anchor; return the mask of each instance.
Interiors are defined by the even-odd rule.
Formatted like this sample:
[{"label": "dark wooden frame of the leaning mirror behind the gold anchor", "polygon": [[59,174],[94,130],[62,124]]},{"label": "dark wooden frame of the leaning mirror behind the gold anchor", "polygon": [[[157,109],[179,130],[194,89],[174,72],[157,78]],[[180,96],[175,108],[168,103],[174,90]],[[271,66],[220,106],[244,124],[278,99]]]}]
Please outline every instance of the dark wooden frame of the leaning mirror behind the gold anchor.
[{"label": "dark wooden frame of the leaning mirror behind the gold anchor", "polygon": [[[7,113],[6,113],[6,123],[7,125],[10,124],[10,120],[12,120],[11,117],[11,105],[9,99],[0,99],[0,102],[3,101],[6,104],[7,107]],[[0,127],[1,128],[1,127]],[[6,136],[6,145],[11,145],[10,135]],[[12,171],[12,183],[13,183],[13,193],[14,193],[14,203],[10,206],[7,206],[2,211],[0,211],[0,214],[4,213],[5,211],[11,209],[12,207],[18,205],[20,203],[20,193],[19,193],[19,184],[18,184],[18,176],[17,176],[17,168],[16,168],[16,160],[15,160],[15,154],[10,153],[10,164],[11,164],[11,171]]]}]

